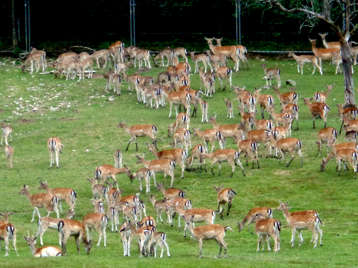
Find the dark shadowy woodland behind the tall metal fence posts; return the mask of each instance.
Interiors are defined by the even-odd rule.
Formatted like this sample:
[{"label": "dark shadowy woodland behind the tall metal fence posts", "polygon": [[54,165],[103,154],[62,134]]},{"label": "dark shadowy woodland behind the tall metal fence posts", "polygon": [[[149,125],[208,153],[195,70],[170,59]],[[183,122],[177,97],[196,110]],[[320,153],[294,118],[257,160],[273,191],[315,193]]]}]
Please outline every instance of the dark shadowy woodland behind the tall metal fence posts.
[{"label": "dark shadowy woodland behind the tall metal fence posts", "polygon": [[[286,6],[306,5],[320,11],[322,1],[282,1]],[[330,28],[302,14],[285,14],[257,0],[243,0],[242,44],[256,50],[310,50],[308,37]],[[64,2],[30,0],[31,44],[40,49],[63,49],[71,45],[107,48],[116,40],[130,43],[129,1],[73,0]],[[236,36],[233,0],[136,0],[136,43],[151,50],[166,45],[204,49],[204,36],[224,37],[234,44]],[[339,6],[332,9],[339,22]],[[25,48],[24,2],[15,0],[20,23],[20,48]],[[301,27],[305,21],[305,25]],[[11,1],[0,3],[0,49],[11,45]],[[336,40],[334,34],[328,41]],[[353,37],[354,40],[354,37]]]}]

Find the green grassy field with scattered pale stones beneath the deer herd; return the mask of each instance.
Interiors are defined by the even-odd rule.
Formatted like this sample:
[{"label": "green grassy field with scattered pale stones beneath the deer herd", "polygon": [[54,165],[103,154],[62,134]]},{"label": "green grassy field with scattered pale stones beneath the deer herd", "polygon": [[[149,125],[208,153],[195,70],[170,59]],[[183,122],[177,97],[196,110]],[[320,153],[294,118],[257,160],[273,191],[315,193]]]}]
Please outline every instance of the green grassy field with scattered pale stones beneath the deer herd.
[{"label": "green grassy field with scattered pale stones beneath the deer herd", "polygon": [[[4,60],[3,60],[4,61]],[[304,97],[313,97],[315,91],[325,91],[324,84],[336,83],[328,98],[327,104],[331,111],[328,114],[328,126],[339,130],[340,121],[335,104],[344,102],[343,76],[334,75],[334,66],[324,64],[324,75],[318,72],[311,75],[310,65],[304,68],[304,75],[297,74],[297,67],[292,60],[266,61],[269,67],[281,69],[282,92],[289,91],[285,81],[292,79],[297,82],[296,93]],[[190,63],[192,63],[190,61]],[[231,62],[232,63],[232,62]],[[246,86],[251,92],[254,88],[263,86],[263,71],[260,66],[262,61],[250,59],[250,69],[240,69],[233,74],[233,85]],[[231,66],[233,67],[233,66]],[[194,69],[194,65],[192,64]],[[50,68],[48,68],[50,69]],[[96,69],[98,73],[104,73],[105,69]],[[145,75],[151,75],[156,79],[159,72],[164,68],[153,68]],[[129,73],[134,72],[130,69]],[[354,75],[356,77],[356,75]],[[300,168],[300,160],[295,158],[290,167],[279,165],[275,158],[266,159],[267,149],[260,147],[259,155],[261,169],[245,168],[246,177],[243,177],[240,167],[237,167],[232,178],[231,168],[223,163],[221,176],[203,172],[185,172],[184,179],[180,179],[180,168],[175,170],[174,187],[185,191],[186,197],[192,200],[194,208],[217,208],[217,193],[213,185],[230,187],[237,193],[229,216],[219,219],[216,223],[231,226],[234,232],[227,232],[225,241],[228,244],[228,258],[217,259],[219,247],[210,240],[203,243],[203,259],[198,259],[198,242],[183,237],[182,229],[178,230],[178,219],[175,217],[173,227],[159,223],[157,228],[167,234],[167,242],[170,247],[171,258],[164,253],[163,259],[142,258],[138,259],[139,251],[136,243],[132,242],[131,257],[123,256],[122,242],[118,233],[107,231],[107,247],[96,247],[98,234],[93,233],[94,245],[90,255],[84,253],[81,244],[81,253],[77,255],[76,244],[73,238],[67,243],[68,254],[62,258],[34,259],[23,235],[27,231],[30,234],[36,232],[36,220],[30,223],[33,209],[30,202],[18,192],[23,184],[29,185],[30,193],[39,193],[39,180],[47,180],[48,185],[55,187],[69,187],[76,190],[76,217],[82,217],[92,212],[93,205],[91,185],[87,177],[93,177],[96,167],[102,164],[113,165],[113,152],[120,148],[123,152],[123,162],[130,167],[132,172],[141,168],[136,164],[135,154],[146,152],[147,159],[154,159],[148,152],[145,142],[149,138],[139,138],[139,151],[135,151],[135,144],[131,144],[129,150],[125,148],[130,139],[123,129],[117,128],[119,121],[127,125],[155,124],[158,128],[158,148],[169,148],[171,138],[167,137],[167,125],[174,122],[175,116],[169,115],[169,105],[158,110],[145,107],[136,102],[136,94],[127,92],[127,84],[122,86],[122,95],[115,96],[114,101],[108,101],[111,94],[104,94],[105,80],[86,79],[66,81],[64,78],[55,79],[53,75],[39,75],[22,73],[18,66],[11,64],[2,65],[0,68],[0,113],[1,120],[6,120],[13,126],[14,147],[13,168],[6,167],[5,154],[2,153],[0,163],[1,190],[0,211],[15,211],[10,216],[10,222],[17,229],[17,249],[19,257],[16,257],[13,249],[10,249],[9,257],[4,257],[4,243],[0,251],[1,267],[357,267],[356,253],[358,244],[357,234],[357,181],[353,180],[353,172],[350,168],[347,175],[335,173],[335,160],[332,160],[325,170],[320,172],[321,158],[318,158],[318,149],[315,143],[316,135],[320,128],[324,127],[322,120],[316,120],[316,129],[312,129],[312,119],[308,107],[299,99],[299,131],[292,131],[292,137],[302,142],[304,155],[303,167]],[[276,84],[276,81],[274,81]],[[199,89],[199,75],[191,76],[191,86]],[[216,88],[218,81],[216,82]],[[276,106],[279,106],[277,96],[272,89],[262,90],[263,93],[271,94],[275,98]],[[104,95],[103,95],[104,94]],[[19,101],[19,98],[22,98]],[[217,114],[219,124],[232,124],[240,122],[238,109],[234,110],[234,119],[226,118],[226,106],[223,98],[236,98],[229,89],[217,91],[209,103],[209,116]],[[238,104],[233,100],[234,107]],[[36,111],[31,111],[33,105]],[[50,111],[50,106],[63,107],[56,111]],[[18,108],[18,109],[16,109]],[[29,109],[30,111],[26,112]],[[278,112],[276,107],[276,112]],[[21,115],[13,115],[17,111]],[[259,116],[257,115],[257,118]],[[265,118],[268,114],[265,113]],[[26,120],[25,120],[26,119]],[[191,126],[212,128],[211,124],[200,124],[201,112],[191,119]],[[295,123],[294,123],[295,126]],[[59,137],[65,145],[60,155],[57,169],[49,167],[49,155],[46,142],[49,137]],[[344,141],[344,135],[339,135],[338,142]],[[192,137],[192,144],[202,143],[198,137]],[[210,147],[209,147],[210,148]],[[236,149],[237,145],[227,142],[227,148]],[[89,150],[86,153],[86,149]],[[1,150],[4,150],[2,147]],[[323,149],[325,156],[325,149]],[[241,162],[245,163],[243,156]],[[210,165],[210,160],[207,161]],[[214,167],[214,172],[218,165]],[[124,189],[124,195],[138,192],[138,182],[130,182],[125,174],[117,175],[120,189]],[[157,175],[158,182],[165,182],[168,187],[170,178]],[[158,199],[163,198],[161,192],[157,192],[151,185],[150,194],[158,194]],[[149,194],[149,195],[150,195]],[[147,215],[155,216],[151,203],[147,201],[149,195],[141,192],[140,197],[146,203]],[[304,242],[298,248],[296,237],[295,247],[291,248],[291,228],[287,224],[281,211],[274,210],[274,218],[281,221],[281,251],[279,253],[258,252],[256,253],[257,236],[248,232],[247,227],[239,233],[236,222],[241,221],[248,210],[258,206],[276,208],[282,202],[289,201],[292,211],[314,209],[319,212],[322,220],[323,247],[313,248],[309,243],[311,232],[303,232]],[[67,204],[63,205],[68,208]],[[45,210],[40,209],[41,215]],[[55,217],[55,213],[51,214]],[[121,217],[121,216],[120,216]],[[156,217],[155,217],[156,218]],[[182,221],[183,224],[183,221]],[[253,225],[252,225],[253,228]],[[39,244],[39,243],[38,243]],[[58,236],[55,230],[48,230],[44,235],[45,245],[57,245]],[[11,243],[10,243],[11,245]],[[158,247],[159,249],[159,247]],[[157,252],[158,253],[158,252]]]}]

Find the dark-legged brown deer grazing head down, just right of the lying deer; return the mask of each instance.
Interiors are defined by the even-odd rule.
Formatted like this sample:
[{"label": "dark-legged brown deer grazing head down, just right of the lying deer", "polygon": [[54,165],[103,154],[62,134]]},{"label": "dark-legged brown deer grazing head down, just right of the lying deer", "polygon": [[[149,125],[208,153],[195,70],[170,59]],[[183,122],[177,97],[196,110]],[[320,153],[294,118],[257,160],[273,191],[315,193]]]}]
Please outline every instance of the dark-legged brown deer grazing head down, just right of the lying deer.
[{"label": "dark-legged brown deer grazing head down, just right of the lying deer", "polygon": [[84,243],[84,252],[86,252],[87,255],[89,254],[89,251],[92,248],[92,240],[88,240],[86,236],[86,229],[84,228],[84,225],[81,222],[72,219],[63,219],[58,222],[57,226],[58,226],[59,236],[61,239],[63,254],[67,253],[66,243],[67,243],[67,239],[70,236],[73,236],[74,239],[76,240],[77,254],[79,254],[79,246],[81,243],[81,239]]}]

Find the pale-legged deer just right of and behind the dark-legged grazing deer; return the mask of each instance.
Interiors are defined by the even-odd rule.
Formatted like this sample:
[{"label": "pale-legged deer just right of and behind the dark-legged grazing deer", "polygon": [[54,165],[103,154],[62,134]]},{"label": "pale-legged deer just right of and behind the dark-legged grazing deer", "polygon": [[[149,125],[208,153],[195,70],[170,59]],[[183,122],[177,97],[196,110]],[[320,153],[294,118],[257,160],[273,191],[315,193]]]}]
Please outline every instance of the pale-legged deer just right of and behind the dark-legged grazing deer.
[{"label": "pale-legged deer just right of and behind the dark-legged grazing deer", "polygon": [[[87,215],[84,215],[81,223],[86,229],[87,240],[92,241],[92,230],[95,228],[98,235],[100,236],[98,239],[97,247],[100,246],[102,236],[104,237],[104,246],[106,247],[106,226],[108,224],[108,218],[105,214],[88,213]],[[88,229],[91,229],[91,233],[88,232]]]}]

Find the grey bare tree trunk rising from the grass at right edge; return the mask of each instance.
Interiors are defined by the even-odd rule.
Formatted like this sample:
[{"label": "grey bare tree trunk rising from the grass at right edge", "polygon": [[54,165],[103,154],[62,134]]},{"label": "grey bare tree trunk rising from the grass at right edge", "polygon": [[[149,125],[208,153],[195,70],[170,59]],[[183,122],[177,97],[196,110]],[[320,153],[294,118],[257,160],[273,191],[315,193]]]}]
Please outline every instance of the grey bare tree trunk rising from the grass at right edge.
[{"label": "grey bare tree trunk rising from the grass at right edge", "polygon": [[344,38],[340,38],[340,51],[342,56],[342,67],[344,76],[344,106],[345,108],[355,106],[354,85],[352,77],[352,60],[349,44]]}]

